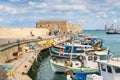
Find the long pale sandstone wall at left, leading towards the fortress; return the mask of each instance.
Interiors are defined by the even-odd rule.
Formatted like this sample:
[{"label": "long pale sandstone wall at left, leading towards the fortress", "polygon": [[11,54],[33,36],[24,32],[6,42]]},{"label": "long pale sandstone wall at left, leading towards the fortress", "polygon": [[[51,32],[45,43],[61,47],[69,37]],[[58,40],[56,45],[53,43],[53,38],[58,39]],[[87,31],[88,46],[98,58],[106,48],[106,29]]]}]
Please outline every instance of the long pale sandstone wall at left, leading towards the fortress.
[{"label": "long pale sandstone wall at left, leading towards the fortress", "polygon": [[34,36],[46,36],[49,30],[46,28],[0,28],[0,39],[24,38]]}]

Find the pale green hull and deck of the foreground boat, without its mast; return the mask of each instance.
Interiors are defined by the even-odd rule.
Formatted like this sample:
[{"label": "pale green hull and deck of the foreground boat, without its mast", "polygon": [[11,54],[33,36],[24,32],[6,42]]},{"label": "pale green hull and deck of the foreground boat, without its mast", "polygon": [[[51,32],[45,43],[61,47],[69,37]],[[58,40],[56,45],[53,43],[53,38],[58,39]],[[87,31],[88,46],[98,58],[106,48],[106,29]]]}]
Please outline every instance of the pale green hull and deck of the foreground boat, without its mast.
[{"label": "pale green hull and deck of the foreground boat, without its mast", "polygon": [[[60,59],[52,57],[50,59],[51,68],[54,72],[65,72],[66,69],[73,71],[73,73],[96,73],[98,72],[98,67],[95,62],[87,61],[84,56],[83,60],[79,61],[77,59]],[[91,66],[89,65],[91,64]]]}]

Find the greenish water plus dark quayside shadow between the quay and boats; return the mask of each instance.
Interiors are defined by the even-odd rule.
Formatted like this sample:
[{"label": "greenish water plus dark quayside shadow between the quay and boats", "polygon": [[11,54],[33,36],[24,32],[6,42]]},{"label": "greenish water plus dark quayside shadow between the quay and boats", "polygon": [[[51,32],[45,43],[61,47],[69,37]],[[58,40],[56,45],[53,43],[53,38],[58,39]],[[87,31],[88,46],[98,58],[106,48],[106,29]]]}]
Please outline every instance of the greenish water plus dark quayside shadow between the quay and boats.
[{"label": "greenish water plus dark quayside shadow between the quay and boats", "polygon": [[41,51],[38,60],[34,62],[28,72],[32,80],[66,80],[64,74],[53,72],[49,60],[49,50]]}]

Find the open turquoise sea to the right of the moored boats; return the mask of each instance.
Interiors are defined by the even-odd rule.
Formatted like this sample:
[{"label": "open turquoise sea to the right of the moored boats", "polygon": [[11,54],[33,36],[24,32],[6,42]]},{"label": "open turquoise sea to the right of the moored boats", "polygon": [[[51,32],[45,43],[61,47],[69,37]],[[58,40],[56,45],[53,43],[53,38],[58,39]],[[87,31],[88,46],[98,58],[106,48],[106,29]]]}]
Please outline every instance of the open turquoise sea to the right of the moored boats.
[{"label": "open turquoise sea to the right of the moored boats", "polygon": [[103,45],[109,46],[113,56],[120,57],[120,34],[106,34],[105,30],[84,30],[83,32],[102,38]]}]

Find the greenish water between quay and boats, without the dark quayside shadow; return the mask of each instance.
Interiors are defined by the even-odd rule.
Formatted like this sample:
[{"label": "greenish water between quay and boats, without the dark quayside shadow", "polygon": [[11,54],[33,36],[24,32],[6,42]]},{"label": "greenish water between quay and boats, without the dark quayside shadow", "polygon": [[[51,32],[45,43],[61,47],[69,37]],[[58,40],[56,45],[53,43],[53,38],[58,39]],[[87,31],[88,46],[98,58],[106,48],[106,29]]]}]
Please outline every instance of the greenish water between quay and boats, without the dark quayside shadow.
[{"label": "greenish water between quay and boats, without the dark quayside shadow", "polygon": [[35,80],[65,80],[65,76],[62,73],[54,73],[50,66],[50,54],[49,51],[43,51],[40,53],[41,65],[39,66],[37,77]]}]

